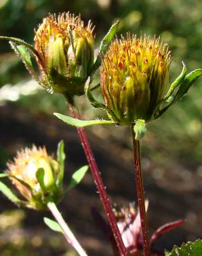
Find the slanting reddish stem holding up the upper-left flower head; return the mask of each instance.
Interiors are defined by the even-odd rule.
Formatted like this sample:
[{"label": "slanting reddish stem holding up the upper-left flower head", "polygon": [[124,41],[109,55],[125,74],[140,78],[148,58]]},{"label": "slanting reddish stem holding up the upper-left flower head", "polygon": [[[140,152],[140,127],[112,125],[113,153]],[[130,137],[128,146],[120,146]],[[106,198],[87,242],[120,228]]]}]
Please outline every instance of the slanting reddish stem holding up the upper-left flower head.
[{"label": "slanting reddish stem holding up the upper-left flower head", "polygon": [[[71,111],[71,116],[73,118],[80,119],[80,113],[73,106],[73,104],[69,103],[69,109]],[[125,245],[123,244],[122,237],[120,235],[120,231],[119,231],[118,226],[117,226],[116,218],[113,214],[111,204],[109,203],[109,197],[107,195],[107,192],[106,192],[105,187],[104,187],[104,183],[103,183],[102,178],[100,176],[100,172],[98,170],[98,165],[95,162],[95,158],[93,156],[91,146],[89,145],[89,140],[86,136],[86,132],[85,132],[84,128],[77,127],[77,133],[80,137],[82,147],[83,147],[84,152],[86,154],[87,161],[89,162],[89,167],[91,168],[91,173],[93,175],[95,185],[96,185],[96,187],[98,189],[98,192],[100,194],[100,199],[102,201],[102,205],[104,207],[104,210],[107,214],[107,219],[108,219],[109,224],[111,226],[111,230],[113,231],[114,238],[116,239],[116,243],[117,243],[117,246],[118,246],[118,250],[120,251],[120,255],[127,256],[127,250],[125,248]]]}]

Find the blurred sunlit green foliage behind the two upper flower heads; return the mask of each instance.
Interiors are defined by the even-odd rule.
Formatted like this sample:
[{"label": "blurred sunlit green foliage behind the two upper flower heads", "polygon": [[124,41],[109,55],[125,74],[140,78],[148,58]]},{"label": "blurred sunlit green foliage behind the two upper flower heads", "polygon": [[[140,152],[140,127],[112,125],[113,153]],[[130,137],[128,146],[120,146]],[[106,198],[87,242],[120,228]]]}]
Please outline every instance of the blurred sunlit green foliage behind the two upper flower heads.
[{"label": "blurred sunlit green foliage behind the two upper flower heads", "polygon": [[[95,24],[96,42],[106,33],[111,23],[120,19],[120,33],[127,31],[140,34],[148,33],[163,39],[172,49],[170,82],[181,71],[181,60],[185,61],[188,71],[202,67],[202,2],[199,0],[0,0],[0,34],[19,37],[33,43],[33,30],[48,12],[70,11],[81,14],[84,20],[91,19]],[[10,51],[6,42],[0,42],[0,86],[16,84],[27,76],[21,61]],[[11,75],[12,74],[12,75]],[[98,79],[98,78],[97,78]],[[163,118],[150,125],[152,134],[163,139],[168,153],[176,156],[187,154],[201,162],[201,80],[170,109]],[[43,93],[46,95],[46,93]],[[42,96],[39,109],[64,107],[62,97]],[[31,96],[32,100],[35,96]],[[40,98],[40,95],[36,95]],[[26,106],[30,98],[22,99]],[[45,104],[43,103],[45,102]],[[56,106],[56,105],[57,106]],[[62,107],[62,108],[63,108]],[[57,109],[58,110],[58,109]],[[43,110],[44,111],[44,110]],[[51,112],[51,111],[50,111]],[[167,134],[167,136],[165,136]],[[178,143],[170,143],[175,140]],[[183,143],[182,143],[183,141]],[[190,153],[190,147],[195,146]],[[180,149],[180,150],[179,150]]]}]

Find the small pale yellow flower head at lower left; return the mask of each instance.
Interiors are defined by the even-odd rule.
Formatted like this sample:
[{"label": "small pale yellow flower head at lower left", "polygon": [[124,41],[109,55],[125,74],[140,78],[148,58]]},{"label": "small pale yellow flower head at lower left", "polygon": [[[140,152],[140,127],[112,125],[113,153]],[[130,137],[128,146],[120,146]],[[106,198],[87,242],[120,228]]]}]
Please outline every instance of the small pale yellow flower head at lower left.
[{"label": "small pale yellow flower head at lower left", "polygon": [[[17,152],[13,162],[9,162],[8,174],[17,190],[24,196],[29,207],[37,210],[45,209],[48,200],[58,201],[62,194],[61,186],[56,181],[60,173],[59,163],[48,156],[45,147],[23,149]],[[37,171],[44,170],[43,188],[37,179]]]}]

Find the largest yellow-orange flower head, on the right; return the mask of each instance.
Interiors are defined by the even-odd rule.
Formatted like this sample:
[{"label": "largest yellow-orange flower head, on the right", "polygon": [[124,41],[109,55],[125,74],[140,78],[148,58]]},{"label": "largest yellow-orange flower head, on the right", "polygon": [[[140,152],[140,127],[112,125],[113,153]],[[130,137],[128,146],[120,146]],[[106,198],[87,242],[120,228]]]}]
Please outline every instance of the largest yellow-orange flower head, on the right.
[{"label": "largest yellow-orange flower head, on the right", "polygon": [[[107,109],[120,124],[152,120],[169,78],[170,52],[160,39],[116,39],[102,56],[100,86]],[[113,116],[109,114],[113,119]]]}]

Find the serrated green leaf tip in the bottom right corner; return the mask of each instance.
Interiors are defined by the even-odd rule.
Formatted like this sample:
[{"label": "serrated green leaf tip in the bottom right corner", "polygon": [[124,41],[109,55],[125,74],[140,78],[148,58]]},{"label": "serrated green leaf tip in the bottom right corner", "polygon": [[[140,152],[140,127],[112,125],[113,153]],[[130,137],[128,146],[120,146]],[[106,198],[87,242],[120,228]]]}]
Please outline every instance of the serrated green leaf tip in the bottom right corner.
[{"label": "serrated green leaf tip in the bottom right corner", "polygon": [[187,244],[183,243],[181,248],[174,246],[172,252],[165,252],[165,256],[201,256],[202,255],[202,241],[200,239]]}]

